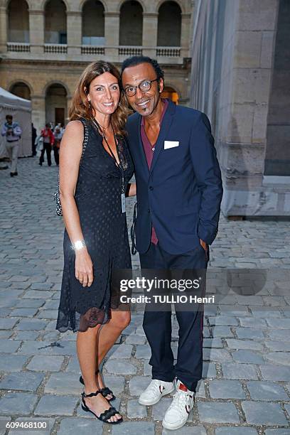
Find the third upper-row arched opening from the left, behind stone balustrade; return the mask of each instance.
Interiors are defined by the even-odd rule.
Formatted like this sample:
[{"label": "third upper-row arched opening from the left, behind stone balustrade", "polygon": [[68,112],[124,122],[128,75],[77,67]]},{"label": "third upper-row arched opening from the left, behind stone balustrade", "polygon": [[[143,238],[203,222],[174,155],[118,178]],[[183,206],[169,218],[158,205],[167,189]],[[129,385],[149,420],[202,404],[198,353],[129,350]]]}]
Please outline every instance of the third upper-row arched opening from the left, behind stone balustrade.
[{"label": "third upper-row arched opening from the left, behind stone balustrade", "polygon": [[104,6],[88,0],[82,7],[82,44],[104,45]]}]

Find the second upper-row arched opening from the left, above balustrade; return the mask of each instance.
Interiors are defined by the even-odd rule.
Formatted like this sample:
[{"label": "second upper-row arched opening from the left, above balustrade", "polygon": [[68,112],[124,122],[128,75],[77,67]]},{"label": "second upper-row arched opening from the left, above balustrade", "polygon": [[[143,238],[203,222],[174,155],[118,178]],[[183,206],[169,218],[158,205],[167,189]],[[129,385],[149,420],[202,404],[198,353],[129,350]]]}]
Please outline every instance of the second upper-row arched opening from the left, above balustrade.
[{"label": "second upper-row arched opening from the left, above balustrade", "polygon": [[67,43],[66,7],[62,0],[49,0],[45,4],[45,44]]}]

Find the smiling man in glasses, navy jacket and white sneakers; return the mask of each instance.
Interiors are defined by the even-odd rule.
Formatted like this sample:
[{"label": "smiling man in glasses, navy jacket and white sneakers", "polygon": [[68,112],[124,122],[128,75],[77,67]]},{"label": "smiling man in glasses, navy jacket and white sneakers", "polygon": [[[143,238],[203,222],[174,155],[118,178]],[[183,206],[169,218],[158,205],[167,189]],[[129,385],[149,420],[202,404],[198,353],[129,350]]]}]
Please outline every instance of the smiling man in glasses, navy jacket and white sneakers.
[{"label": "smiling man in glasses, navy jacket and white sneakers", "polygon": [[[163,71],[156,60],[129,58],[122,84],[136,111],[129,117],[138,214],[136,249],[141,269],[206,269],[208,245],[218,233],[222,181],[210,122],[205,114],[161,99]],[[139,403],[155,404],[173,392],[163,427],[183,426],[203,364],[203,310],[176,311],[178,358],[173,365],[171,311],[145,309],[152,381]]]}]

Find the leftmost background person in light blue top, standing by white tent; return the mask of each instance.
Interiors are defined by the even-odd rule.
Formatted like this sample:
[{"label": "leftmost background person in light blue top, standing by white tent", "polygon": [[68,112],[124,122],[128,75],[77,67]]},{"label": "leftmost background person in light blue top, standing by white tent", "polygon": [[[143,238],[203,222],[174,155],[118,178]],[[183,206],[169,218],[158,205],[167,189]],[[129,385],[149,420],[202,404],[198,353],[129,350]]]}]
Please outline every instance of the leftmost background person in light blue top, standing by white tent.
[{"label": "leftmost background person in light blue top, standing by white tent", "polygon": [[17,159],[21,134],[21,127],[18,125],[17,122],[13,122],[12,115],[6,115],[6,122],[1,129],[1,135],[6,137],[6,150],[9,155],[9,159],[11,160],[11,177],[18,175]]}]

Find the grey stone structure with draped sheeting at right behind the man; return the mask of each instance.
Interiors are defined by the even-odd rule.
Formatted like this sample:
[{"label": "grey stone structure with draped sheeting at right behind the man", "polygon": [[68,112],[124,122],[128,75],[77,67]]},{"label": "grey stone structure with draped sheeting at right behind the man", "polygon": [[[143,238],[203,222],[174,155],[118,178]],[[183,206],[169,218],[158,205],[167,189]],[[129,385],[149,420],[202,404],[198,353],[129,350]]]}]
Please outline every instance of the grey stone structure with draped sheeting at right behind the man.
[{"label": "grey stone structure with draped sheeting at right behind the man", "polygon": [[226,216],[290,215],[290,2],[197,0],[190,105],[215,135]]}]

